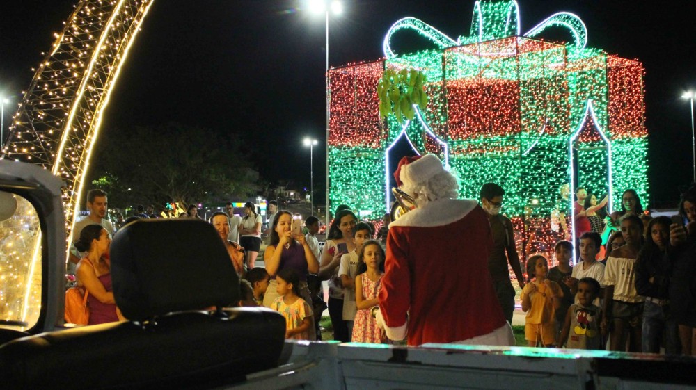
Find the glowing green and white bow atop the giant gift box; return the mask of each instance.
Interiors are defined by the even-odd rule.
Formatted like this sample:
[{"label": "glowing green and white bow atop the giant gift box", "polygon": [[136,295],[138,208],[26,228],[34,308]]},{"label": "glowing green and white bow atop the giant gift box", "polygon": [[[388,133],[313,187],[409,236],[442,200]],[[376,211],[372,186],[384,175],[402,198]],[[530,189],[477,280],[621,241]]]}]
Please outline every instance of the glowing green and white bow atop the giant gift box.
[{"label": "glowing green and white bow atop the giant gift box", "polygon": [[[587,44],[587,28],[577,15],[571,13],[555,13],[537,24],[530,31],[522,36],[536,37],[544,30],[553,26],[567,28],[573,35],[574,42],[571,42],[578,49],[584,49]],[[391,38],[400,30],[415,30],[425,38],[432,40],[439,49],[461,46],[486,40],[495,40],[510,36],[519,36],[520,17],[519,5],[515,0],[505,1],[476,1],[474,4],[473,23],[468,37],[459,37],[453,40],[443,34],[433,26],[422,22],[415,17],[404,17],[393,24],[384,38],[383,51],[386,58],[394,58],[397,54],[391,49]]]}]

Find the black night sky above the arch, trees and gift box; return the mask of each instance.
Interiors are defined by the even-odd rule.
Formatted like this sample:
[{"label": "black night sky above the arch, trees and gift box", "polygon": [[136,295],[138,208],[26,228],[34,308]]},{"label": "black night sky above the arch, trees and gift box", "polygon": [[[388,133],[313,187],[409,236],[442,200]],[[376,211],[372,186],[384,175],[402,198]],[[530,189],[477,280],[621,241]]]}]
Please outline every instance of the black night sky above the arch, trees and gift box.
[{"label": "black night sky above the arch, trees and gift box", "polygon": [[[76,2],[0,3],[3,95],[21,98],[31,67],[42,60],[41,51],[49,49]],[[589,47],[642,61],[650,206],[674,206],[677,188],[693,176],[689,104],[681,95],[696,90],[696,1],[519,3],[523,32],[565,10],[587,25]],[[381,58],[386,31],[406,16],[452,38],[468,35],[473,4],[344,0],[345,12],[330,21],[329,63]],[[309,151],[301,142],[312,136],[319,140],[315,181],[324,180],[324,16],[301,6],[285,0],[155,0],[111,95],[98,142],[118,142],[127,153],[137,145],[120,139],[119,128],[171,121],[239,133],[242,149],[264,179],[308,186]],[[12,111],[6,107],[6,117]]]}]

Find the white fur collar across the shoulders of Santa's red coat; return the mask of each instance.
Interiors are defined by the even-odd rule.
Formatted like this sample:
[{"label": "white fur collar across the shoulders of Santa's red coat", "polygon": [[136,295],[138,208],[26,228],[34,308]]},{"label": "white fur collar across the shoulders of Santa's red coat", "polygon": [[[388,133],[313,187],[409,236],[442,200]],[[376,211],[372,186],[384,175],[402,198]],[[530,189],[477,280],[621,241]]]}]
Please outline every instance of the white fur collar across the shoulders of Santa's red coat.
[{"label": "white fur collar across the shoulders of Santa's red coat", "polygon": [[478,202],[468,199],[441,199],[428,202],[391,222],[389,227],[435,227],[449,225],[464,218]]}]

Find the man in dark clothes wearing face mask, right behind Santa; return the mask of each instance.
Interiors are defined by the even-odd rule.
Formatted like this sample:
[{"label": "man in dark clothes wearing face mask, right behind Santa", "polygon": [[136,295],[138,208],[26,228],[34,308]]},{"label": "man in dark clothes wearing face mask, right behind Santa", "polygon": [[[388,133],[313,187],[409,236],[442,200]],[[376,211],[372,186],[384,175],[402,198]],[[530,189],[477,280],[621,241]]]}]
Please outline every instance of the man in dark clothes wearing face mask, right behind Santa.
[{"label": "man in dark clothes wearing face mask, right behind Santa", "polygon": [[503,314],[508,323],[512,324],[512,313],[515,310],[515,289],[510,282],[507,263],[510,263],[515,273],[520,289],[524,288],[524,277],[520,259],[515,246],[515,235],[512,231],[512,221],[500,214],[503,208],[503,187],[495,183],[486,183],[479,193],[481,207],[488,213],[493,234],[493,248],[488,257],[488,269],[493,279],[493,287]]}]

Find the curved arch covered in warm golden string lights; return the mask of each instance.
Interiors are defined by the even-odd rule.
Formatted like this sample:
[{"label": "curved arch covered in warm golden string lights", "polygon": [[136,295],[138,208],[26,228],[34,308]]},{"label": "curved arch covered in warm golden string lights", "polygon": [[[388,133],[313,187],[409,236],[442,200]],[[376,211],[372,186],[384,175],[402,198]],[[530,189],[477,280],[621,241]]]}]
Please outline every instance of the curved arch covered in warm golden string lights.
[{"label": "curved arch covered in warm golden string lights", "polygon": [[[40,165],[65,182],[72,240],[102,113],[154,0],[81,0],[34,76],[10,124],[4,159]],[[66,245],[67,253],[67,245]]]}]

